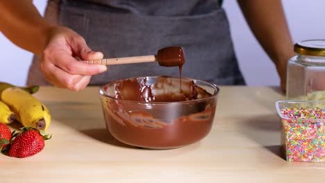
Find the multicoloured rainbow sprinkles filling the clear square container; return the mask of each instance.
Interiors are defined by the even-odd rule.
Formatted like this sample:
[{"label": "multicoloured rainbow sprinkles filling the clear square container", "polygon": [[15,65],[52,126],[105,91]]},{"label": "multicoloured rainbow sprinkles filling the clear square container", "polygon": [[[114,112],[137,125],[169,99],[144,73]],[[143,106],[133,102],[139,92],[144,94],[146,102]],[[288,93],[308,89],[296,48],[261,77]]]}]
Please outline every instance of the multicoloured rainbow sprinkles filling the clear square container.
[{"label": "multicoloured rainbow sprinkles filling the clear square container", "polygon": [[325,110],[285,108],[282,132],[288,162],[325,162]]}]

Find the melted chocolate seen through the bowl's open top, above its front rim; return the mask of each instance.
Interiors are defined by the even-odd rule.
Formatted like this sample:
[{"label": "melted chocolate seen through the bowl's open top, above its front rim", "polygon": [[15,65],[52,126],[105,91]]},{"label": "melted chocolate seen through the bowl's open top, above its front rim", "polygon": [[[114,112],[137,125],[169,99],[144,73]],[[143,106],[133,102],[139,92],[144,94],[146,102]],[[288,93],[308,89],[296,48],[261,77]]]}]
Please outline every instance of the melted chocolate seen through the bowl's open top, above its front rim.
[{"label": "melted chocolate seen through the bowl's open top, above its front rim", "polygon": [[[180,82],[183,83],[182,92],[179,92]],[[167,76],[157,78],[152,85],[147,84],[147,78],[123,80],[115,86],[115,91],[115,98],[140,102],[191,101],[211,96],[205,89],[195,85],[193,80],[180,81]]]}]

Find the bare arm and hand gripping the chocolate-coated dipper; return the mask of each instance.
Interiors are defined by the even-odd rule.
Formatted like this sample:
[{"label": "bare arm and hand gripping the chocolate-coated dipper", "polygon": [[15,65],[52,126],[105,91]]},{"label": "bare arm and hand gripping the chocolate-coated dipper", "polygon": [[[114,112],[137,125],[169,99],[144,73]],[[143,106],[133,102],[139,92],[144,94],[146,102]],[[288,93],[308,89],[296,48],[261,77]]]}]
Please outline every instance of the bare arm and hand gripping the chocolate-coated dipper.
[{"label": "bare arm and hand gripping the chocolate-coated dipper", "polygon": [[52,85],[74,91],[85,88],[106,67],[78,62],[103,58],[74,30],[49,24],[32,0],[0,1],[0,30],[14,44],[41,56],[40,71]]}]

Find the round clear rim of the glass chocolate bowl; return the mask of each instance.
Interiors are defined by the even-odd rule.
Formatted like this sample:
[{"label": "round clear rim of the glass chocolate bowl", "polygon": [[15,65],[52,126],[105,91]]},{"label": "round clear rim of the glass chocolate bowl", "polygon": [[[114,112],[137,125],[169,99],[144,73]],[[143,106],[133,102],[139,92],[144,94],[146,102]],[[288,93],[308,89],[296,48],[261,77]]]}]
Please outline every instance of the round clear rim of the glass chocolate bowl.
[{"label": "round clear rim of the glass chocolate bowl", "polygon": [[[120,80],[128,80],[128,79],[134,79],[134,78],[159,78],[159,77],[162,77],[162,76],[144,76],[144,77],[133,77],[133,78],[122,78],[122,79],[119,79],[119,80],[114,80],[112,82],[108,82],[106,83],[105,85],[101,85],[101,87],[99,87],[99,94],[101,96],[105,96],[105,97],[108,97],[110,99],[113,99],[115,101],[121,101],[121,102],[126,102],[126,103],[139,103],[139,104],[176,104],[176,103],[194,103],[194,102],[197,102],[197,101],[206,101],[206,100],[210,100],[212,98],[216,98],[219,93],[220,93],[220,88],[218,87],[218,85],[215,85],[214,83],[210,83],[210,82],[206,82],[204,80],[197,80],[197,79],[192,79],[192,78],[187,78],[187,77],[182,77],[182,79],[188,79],[188,80],[193,80],[194,82],[195,81],[199,81],[199,82],[203,82],[207,85],[210,85],[213,87],[213,89],[215,89],[215,94],[212,94],[211,96],[209,97],[206,97],[206,98],[199,98],[199,99],[194,99],[194,100],[191,100],[191,101],[174,101],[174,102],[145,102],[145,101],[130,101],[130,100],[122,100],[122,99],[118,99],[118,98],[114,98],[112,96],[108,96],[105,94],[105,92],[103,92],[103,87],[105,87],[106,85],[110,85],[114,82],[118,82]],[[164,76],[163,76],[164,77]],[[174,76],[167,76],[168,78],[178,78],[178,77],[174,77]]]}]

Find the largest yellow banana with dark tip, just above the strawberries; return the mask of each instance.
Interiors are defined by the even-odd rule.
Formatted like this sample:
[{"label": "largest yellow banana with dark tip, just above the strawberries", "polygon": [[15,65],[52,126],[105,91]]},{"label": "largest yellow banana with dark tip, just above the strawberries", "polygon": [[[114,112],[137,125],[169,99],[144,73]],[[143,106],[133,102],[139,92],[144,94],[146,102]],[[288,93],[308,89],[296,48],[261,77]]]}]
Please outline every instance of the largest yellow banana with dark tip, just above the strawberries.
[{"label": "largest yellow banana with dark tip, just above the strawberries", "polygon": [[15,113],[17,121],[24,127],[45,131],[51,123],[47,107],[32,94],[19,87],[9,87],[1,93],[1,100]]}]

